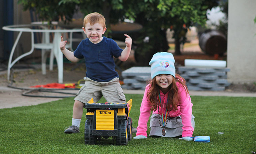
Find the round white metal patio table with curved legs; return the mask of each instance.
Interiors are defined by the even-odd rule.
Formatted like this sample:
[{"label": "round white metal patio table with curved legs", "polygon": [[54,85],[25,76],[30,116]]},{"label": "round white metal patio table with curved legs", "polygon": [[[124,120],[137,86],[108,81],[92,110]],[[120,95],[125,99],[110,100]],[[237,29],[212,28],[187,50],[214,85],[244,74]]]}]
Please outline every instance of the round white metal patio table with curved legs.
[{"label": "round white metal patio table with curved legs", "polygon": [[[55,24],[55,25],[58,26],[58,24]],[[82,28],[79,28],[79,29],[77,29],[77,28],[73,28],[73,29],[33,29],[33,27],[35,27],[35,26],[46,26],[47,27],[47,24],[20,24],[20,25],[7,25],[7,26],[2,27],[3,30],[19,32],[19,34],[13,44],[11,53],[10,53],[10,57],[9,57],[9,61],[8,61],[8,68],[7,68],[7,79],[8,79],[8,81],[10,80],[11,67],[17,61],[19,61],[21,58],[33,53],[33,51],[35,49],[34,32],[40,32],[40,33],[54,33],[53,51],[54,51],[54,56],[56,58],[57,66],[58,66],[58,82],[63,83],[63,54],[60,51],[60,47],[59,47],[59,44],[61,41],[61,33],[83,32],[83,29]],[[20,55],[19,57],[17,57],[15,60],[12,61],[14,50],[15,50],[15,48],[20,40],[21,34],[23,32],[31,32],[31,50],[27,53]],[[71,40],[70,40],[70,42],[71,42]]]}]

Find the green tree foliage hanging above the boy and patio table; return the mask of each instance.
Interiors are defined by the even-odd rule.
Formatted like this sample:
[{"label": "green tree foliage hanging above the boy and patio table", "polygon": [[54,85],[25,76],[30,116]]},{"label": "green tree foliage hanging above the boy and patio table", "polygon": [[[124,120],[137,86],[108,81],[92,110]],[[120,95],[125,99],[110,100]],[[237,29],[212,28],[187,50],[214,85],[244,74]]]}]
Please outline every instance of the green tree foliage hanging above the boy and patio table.
[{"label": "green tree foliage hanging above the boy and patio table", "polygon": [[110,23],[115,24],[135,16],[133,4],[128,0],[18,0],[18,3],[23,5],[24,10],[33,10],[40,20],[49,23],[59,19],[65,23],[72,22],[72,16],[77,8],[85,15],[99,12],[106,18],[106,35],[110,31]]}]

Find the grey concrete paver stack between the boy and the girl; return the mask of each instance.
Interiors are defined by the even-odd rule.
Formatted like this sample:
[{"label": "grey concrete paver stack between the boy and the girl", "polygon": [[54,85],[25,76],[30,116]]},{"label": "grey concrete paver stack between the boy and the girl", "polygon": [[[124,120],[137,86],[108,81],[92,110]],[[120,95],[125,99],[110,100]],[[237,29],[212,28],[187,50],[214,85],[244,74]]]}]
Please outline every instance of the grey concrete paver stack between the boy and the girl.
[{"label": "grey concrete paver stack between the boy and the girl", "polygon": [[122,72],[124,78],[123,89],[145,90],[148,81],[151,80],[151,67],[131,67]]}]

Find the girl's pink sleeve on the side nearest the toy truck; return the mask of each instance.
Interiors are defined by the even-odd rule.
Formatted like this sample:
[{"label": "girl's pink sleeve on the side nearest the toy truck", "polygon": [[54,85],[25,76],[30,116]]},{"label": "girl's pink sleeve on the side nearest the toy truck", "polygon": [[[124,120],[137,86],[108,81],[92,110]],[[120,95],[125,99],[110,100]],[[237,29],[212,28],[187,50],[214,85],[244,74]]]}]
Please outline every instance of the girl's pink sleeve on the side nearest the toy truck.
[{"label": "girl's pink sleeve on the side nearest the toy truck", "polygon": [[148,130],[148,121],[151,114],[151,105],[150,102],[147,100],[147,93],[149,90],[149,84],[146,86],[144,96],[142,98],[141,106],[140,106],[140,114],[139,114],[139,121],[138,121],[138,127],[137,127],[137,133],[138,135],[148,136],[147,130]]}]

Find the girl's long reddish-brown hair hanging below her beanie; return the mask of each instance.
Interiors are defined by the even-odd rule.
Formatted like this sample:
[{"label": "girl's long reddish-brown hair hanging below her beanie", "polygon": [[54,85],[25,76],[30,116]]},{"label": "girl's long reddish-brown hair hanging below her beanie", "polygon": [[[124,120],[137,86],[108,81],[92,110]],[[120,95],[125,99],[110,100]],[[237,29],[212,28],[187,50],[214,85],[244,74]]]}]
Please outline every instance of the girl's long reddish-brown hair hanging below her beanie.
[{"label": "girl's long reddish-brown hair hanging below her beanie", "polygon": [[[181,81],[182,79],[182,81]],[[166,104],[166,108],[168,111],[171,111],[172,109],[177,110],[178,104],[179,104],[179,89],[176,85],[176,82],[179,82],[182,84],[184,89],[187,91],[187,95],[189,95],[188,88],[186,86],[186,81],[183,77],[181,77],[179,74],[175,74],[175,78],[172,78],[172,83],[169,86],[169,95],[168,95],[168,102]],[[158,104],[158,94],[159,94],[159,86],[156,84],[156,78],[154,77],[150,82],[150,89],[147,94],[148,101],[151,103],[151,110],[156,111],[157,110],[157,104]]]}]

